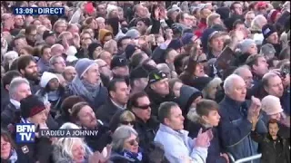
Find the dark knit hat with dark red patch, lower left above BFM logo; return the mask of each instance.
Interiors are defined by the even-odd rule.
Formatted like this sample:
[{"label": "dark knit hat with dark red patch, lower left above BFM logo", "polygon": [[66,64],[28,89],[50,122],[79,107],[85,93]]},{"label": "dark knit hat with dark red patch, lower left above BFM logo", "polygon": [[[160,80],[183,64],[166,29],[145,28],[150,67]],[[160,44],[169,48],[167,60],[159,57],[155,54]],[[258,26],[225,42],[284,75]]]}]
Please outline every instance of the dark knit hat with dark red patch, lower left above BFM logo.
[{"label": "dark knit hat with dark red patch, lower left above BFM logo", "polygon": [[24,119],[33,117],[43,110],[45,110],[44,102],[35,95],[29,95],[20,101],[21,117]]}]

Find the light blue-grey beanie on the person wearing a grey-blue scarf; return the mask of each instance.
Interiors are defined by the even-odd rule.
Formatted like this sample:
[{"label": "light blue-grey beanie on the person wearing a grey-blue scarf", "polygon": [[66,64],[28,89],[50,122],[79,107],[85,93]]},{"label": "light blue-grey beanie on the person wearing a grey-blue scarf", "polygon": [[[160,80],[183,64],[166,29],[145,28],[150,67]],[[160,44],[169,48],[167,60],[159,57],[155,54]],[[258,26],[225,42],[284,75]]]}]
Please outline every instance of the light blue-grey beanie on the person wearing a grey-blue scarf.
[{"label": "light blue-grey beanie on the person wearing a grey-blue scarf", "polygon": [[93,65],[96,65],[96,62],[94,62],[93,60],[89,60],[87,58],[79,59],[75,63],[75,72],[78,77],[81,78],[85,74],[85,72],[87,72]]}]

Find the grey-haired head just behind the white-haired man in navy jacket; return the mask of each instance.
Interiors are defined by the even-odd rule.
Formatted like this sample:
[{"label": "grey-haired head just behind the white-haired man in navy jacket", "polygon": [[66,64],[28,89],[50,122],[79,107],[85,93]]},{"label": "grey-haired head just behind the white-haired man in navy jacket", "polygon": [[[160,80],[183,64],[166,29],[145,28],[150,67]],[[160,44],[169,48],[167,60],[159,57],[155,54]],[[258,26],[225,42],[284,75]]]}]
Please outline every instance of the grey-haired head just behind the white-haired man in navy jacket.
[{"label": "grey-haired head just behind the white-haired man in navy jacket", "polygon": [[238,67],[235,72],[238,76],[242,77],[246,82],[246,88],[251,89],[253,86],[253,74],[250,71],[250,68],[247,65]]}]

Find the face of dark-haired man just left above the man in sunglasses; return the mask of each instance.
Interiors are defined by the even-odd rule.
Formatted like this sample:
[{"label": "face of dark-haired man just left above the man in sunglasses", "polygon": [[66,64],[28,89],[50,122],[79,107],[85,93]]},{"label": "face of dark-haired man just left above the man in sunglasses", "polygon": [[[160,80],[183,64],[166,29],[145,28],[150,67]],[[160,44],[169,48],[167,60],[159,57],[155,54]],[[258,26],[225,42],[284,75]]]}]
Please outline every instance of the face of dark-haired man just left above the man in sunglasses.
[{"label": "face of dark-haired man just left above the man in sunglasses", "polygon": [[111,97],[114,101],[125,105],[129,98],[129,88],[125,82],[116,82],[115,91],[110,91]]}]

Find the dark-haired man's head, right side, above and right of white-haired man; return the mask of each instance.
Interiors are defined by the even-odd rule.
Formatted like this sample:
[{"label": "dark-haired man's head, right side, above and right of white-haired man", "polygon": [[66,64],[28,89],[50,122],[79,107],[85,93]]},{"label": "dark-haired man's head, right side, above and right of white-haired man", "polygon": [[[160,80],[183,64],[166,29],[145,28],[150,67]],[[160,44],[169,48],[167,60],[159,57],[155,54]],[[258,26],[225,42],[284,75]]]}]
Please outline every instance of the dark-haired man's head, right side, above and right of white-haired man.
[{"label": "dark-haired man's head, right side, above and right of white-haired man", "polygon": [[263,76],[266,72],[268,72],[268,64],[266,62],[266,58],[262,54],[250,55],[246,59],[246,64],[257,76]]}]

